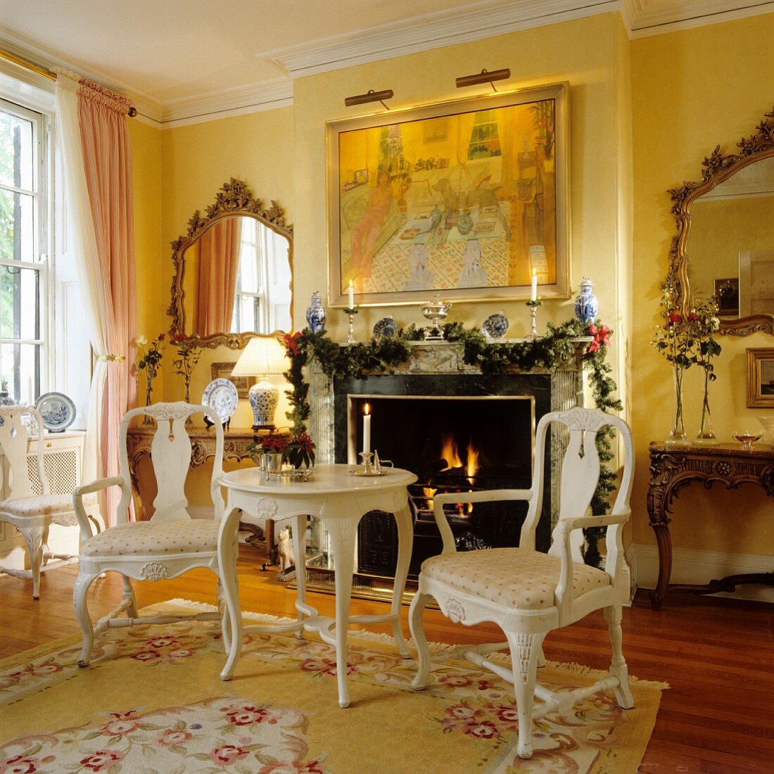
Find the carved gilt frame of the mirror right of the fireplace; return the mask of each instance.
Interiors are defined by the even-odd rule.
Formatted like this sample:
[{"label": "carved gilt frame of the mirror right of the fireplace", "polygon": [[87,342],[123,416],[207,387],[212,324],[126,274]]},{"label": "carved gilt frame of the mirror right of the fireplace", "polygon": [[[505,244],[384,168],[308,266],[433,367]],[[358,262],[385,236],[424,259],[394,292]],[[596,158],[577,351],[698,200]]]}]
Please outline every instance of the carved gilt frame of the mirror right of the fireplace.
[{"label": "carved gilt frame of the mirror right of the fireplace", "polygon": [[[755,135],[750,138],[743,137],[737,143],[738,153],[724,156],[720,152],[721,146],[716,146],[711,156],[702,162],[704,170],[702,170],[700,182],[685,182],[681,187],[672,188],[669,191],[674,202],[671,212],[677,221],[677,235],[672,239],[670,269],[666,282],[675,289],[676,300],[683,308],[683,312],[687,312],[691,304],[690,272],[688,271],[690,258],[686,249],[691,226],[691,204],[745,166],[761,159],[774,157],[774,109],[764,115],[762,122],[756,128],[758,131]],[[721,333],[724,334],[747,336],[756,331],[774,334],[774,315],[755,314],[749,317],[721,320]]]}]

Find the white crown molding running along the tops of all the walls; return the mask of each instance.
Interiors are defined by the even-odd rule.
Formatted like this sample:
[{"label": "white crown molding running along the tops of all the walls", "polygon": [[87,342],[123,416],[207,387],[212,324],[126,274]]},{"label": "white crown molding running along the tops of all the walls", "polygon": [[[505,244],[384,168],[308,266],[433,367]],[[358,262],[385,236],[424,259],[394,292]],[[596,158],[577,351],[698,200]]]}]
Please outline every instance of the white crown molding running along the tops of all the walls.
[{"label": "white crown molding running along the tops of all the walls", "polygon": [[[81,72],[131,98],[138,120],[156,128],[173,128],[293,104],[292,80],[296,77],[608,12],[619,12],[628,36],[635,39],[774,12],[774,0],[477,0],[454,11],[416,16],[358,33],[264,51],[256,56],[272,64],[280,77],[165,103],[98,71],[87,72],[2,27],[0,47],[48,69],[57,66]],[[507,63],[497,65],[507,66]],[[47,88],[46,79],[26,73],[21,67],[4,65],[0,72],[15,76],[20,82]]]}]

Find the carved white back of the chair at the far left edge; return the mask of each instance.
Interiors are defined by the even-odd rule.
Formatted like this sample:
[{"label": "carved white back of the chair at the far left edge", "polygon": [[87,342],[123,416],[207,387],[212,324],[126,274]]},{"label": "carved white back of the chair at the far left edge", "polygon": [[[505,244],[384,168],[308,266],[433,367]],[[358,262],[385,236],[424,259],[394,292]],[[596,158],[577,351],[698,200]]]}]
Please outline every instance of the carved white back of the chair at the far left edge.
[{"label": "carved white back of the chair at the far left edge", "polygon": [[[27,417],[27,421],[24,418]],[[0,406],[0,448],[8,463],[9,498],[36,497],[50,493],[43,467],[43,418],[31,406]],[[37,468],[40,491],[29,478],[27,454],[29,438],[36,435]]]}]

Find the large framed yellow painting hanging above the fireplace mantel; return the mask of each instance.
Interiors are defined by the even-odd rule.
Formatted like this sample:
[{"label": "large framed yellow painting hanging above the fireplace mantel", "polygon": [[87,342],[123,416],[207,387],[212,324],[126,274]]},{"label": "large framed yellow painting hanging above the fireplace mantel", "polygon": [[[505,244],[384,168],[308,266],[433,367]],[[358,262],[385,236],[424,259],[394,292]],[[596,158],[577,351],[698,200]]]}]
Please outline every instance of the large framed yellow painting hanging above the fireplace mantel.
[{"label": "large framed yellow painting hanging above the fireplace mantel", "polygon": [[329,122],[330,305],[568,298],[568,91]]}]

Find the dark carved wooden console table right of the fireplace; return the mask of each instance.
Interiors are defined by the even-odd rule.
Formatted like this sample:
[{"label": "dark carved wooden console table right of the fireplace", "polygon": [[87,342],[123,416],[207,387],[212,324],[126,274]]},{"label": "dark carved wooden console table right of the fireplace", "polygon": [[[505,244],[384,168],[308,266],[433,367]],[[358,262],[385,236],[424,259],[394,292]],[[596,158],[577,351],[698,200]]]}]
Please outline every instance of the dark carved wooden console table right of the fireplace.
[{"label": "dark carved wooden console table right of the fireplace", "polygon": [[694,481],[711,488],[717,481],[727,489],[737,489],[749,481],[774,496],[774,447],[762,444],[742,450],[738,444],[717,446],[665,446],[650,444],[650,482],[648,515],[659,547],[659,579],[650,599],[659,610],[670,591],[690,591],[693,594],[714,594],[735,591],[738,584],[774,585],[774,572],[729,575],[708,584],[670,584],[672,574],[672,537],[670,514],[672,501],[680,490]]}]

